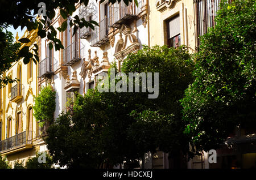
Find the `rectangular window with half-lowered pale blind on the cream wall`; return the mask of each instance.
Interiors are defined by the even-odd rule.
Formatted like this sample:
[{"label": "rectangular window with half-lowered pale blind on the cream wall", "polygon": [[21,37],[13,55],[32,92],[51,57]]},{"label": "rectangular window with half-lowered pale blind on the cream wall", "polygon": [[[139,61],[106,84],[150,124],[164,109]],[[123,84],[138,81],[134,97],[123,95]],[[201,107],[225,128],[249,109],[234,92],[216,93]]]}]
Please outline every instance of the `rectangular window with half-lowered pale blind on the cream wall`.
[{"label": "rectangular window with half-lowered pale blind on the cream wall", "polygon": [[180,46],[180,17],[177,15],[167,22],[167,44],[168,47]]}]

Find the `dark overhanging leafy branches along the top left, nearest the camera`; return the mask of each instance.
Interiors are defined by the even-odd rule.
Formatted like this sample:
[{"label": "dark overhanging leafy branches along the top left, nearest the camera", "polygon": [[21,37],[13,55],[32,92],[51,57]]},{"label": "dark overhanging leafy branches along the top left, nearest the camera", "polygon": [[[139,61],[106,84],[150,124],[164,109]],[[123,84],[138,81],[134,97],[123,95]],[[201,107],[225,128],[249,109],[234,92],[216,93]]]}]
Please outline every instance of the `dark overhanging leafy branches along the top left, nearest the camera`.
[{"label": "dark overhanging leafy branches along the top left, nearest the camera", "polygon": [[[101,0],[101,3],[105,0]],[[123,0],[126,5],[128,5],[129,2],[132,0]],[[43,16],[43,19],[38,20],[36,18],[39,9],[42,7],[38,7],[39,2],[43,2],[46,4],[46,16]],[[97,2],[97,0],[96,0]],[[109,2],[117,2],[117,0],[110,0]],[[118,2],[120,2],[118,0]],[[135,1],[138,5],[138,2]],[[18,28],[19,26],[23,29],[24,27],[27,28],[28,31],[31,31],[32,29],[38,29],[38,36],[41,38],[47,37],[48,40],[52,41],[55,49],[60,50],[64,49],[64,46],[62,45],[59,38],[57,38],[57,31],[64,32],[65,29],[67,29],[67,19],[69,19],[69,24],[74,26],[74,33],[77,31],[77,29],[82,27],[90,27],[94,29],[95,25],[98,25],[97,22],[94,22],[91,20],[90,22],[86,21],[85,18],[79,18],[78,15],[71,18],[73,12],[76,11],[76,3],[84,3],[85,6],[88,5],[89,0],[59,0],[59,1],[51,1],[51,0],[44,0],[44,1],[1,1],[0,6],[0,25],[3,23],[6,23],[7,25],[13,25],[14,29]],[[64,22],[60,25],[58,28],[54,28],[51,25],[51,20],[55,18],[56,11],[60,10],[60,15],[64,19]],[[8,16],[6,16],[8,14]],[[27,43],[30,42],[28,38],[22,38],[19,40],[20,42]],[[51,49],[53,48],[53,44],[51,43],[51,46],[49,46]],[[3,45],[3,47],[7,47]],[[19,57],[24,58],[23,62],[27,64],[28,59],[32,58],[34,62],[39,61],[38,58],[38,47],[36,46],[36,49],[34,50],[35,54],[32,54],[28,50],[28,46],[24,46],[19,51]]]}]

